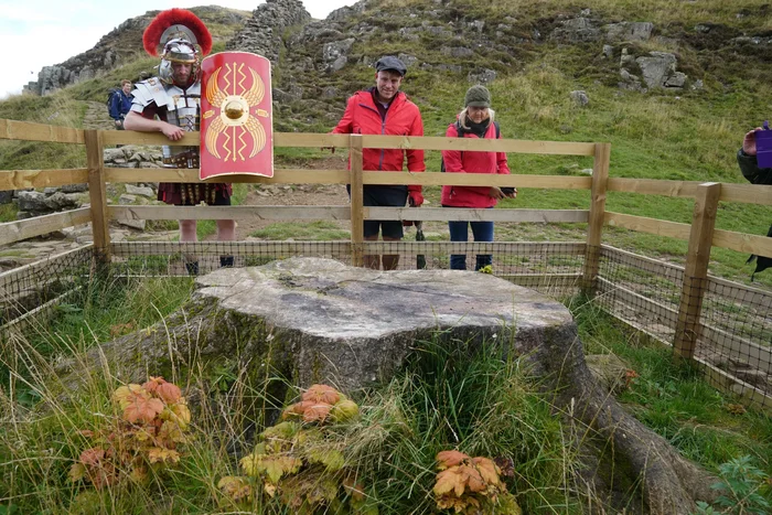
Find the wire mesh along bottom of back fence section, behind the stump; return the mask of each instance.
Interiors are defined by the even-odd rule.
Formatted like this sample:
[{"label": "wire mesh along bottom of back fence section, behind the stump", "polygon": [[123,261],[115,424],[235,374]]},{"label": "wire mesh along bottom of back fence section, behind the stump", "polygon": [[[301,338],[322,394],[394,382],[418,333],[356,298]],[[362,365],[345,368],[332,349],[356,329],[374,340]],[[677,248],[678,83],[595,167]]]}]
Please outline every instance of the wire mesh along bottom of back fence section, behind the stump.
[{"label": "wire mesh along bottom of back fence section, behind the stump", "polygon": [[[468,269],[474,269],[478,255],[492,255],[492,271],[543,292],[565,296],[576,291],[583,265],[583,243],[491,243],[450,242],[366,242],[365,254],[398,255],[397,269],[447,269],[451,254],[467,256]],[[183,276],[206,273],[221,266],[259,266],[293,256],[332,258],[353,264],[352,246],[336,242],[164,242],[115,243],[112,266],[119,273],[141,276]],[[221,259],[222,258],[222,259]],[[195,264],[195,265],[194,265]]]}]

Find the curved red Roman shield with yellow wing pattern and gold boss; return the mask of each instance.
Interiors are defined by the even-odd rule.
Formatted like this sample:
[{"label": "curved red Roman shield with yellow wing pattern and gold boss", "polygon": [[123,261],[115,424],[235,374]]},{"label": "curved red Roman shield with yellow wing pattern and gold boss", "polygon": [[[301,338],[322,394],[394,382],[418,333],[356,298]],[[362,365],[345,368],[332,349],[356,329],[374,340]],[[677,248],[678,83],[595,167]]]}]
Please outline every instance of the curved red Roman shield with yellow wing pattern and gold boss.
[{"label": "curved red Roman shield with yellow wing pattern and gold boss", "polygon": [[202,61],[201,72],[201,179],[272,178],[270,61],[222,52]]}]

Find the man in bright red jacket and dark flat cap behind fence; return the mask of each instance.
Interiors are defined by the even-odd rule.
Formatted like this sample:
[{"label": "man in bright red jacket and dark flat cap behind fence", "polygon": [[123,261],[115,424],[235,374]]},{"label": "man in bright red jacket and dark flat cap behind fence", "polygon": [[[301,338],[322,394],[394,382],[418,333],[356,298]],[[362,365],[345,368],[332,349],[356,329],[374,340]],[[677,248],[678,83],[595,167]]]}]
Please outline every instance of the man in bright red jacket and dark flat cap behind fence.
[{"label": "man in bright red jacket and dark flat cap behind fence", "polygon": [[[355,93],[346,105],[346,110],[333,133],[345,135],[388,135],[423,136],[423,122],[418,106],[399,90],[407,68],[392,55],[375,63],[375,86]],[[405,159],[410,172],[426,170],[422,150],[401,149],[364,149],[364,170],[401,172]],[[364,186],[364,205],[382,207],[404,207],[409,200],[411,206],[423,203],[420,185],[389,186],[366,184]],[[378,239],[382,233],[384,242],[398,242],[403,238],[400,221],[366,219],[364,238],[368,242]],[[365,256],[365,267],[379,269],[380,256]],[[399,255],[384,255],[384,270],[394,270],[399,265]]]}]

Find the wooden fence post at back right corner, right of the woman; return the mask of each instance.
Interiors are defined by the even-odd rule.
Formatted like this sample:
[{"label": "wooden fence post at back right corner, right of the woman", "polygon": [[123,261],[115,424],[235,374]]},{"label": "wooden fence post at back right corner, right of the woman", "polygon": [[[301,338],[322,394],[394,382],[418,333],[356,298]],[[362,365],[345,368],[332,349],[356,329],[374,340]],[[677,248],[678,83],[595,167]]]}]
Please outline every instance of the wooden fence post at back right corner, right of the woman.
[{"label": "wooden fence post at back right corner, right of the woman", "polygon": [[585,267],[581,281],[585,294],[589,296],[594,292],[596,278],[600,270],[600,244],[603,233],[603,217],[605,215],[610,160],[611,143],[596,143],[596,155],[592,164],[590,217],[587,225],[587,248],[585,250]]}]

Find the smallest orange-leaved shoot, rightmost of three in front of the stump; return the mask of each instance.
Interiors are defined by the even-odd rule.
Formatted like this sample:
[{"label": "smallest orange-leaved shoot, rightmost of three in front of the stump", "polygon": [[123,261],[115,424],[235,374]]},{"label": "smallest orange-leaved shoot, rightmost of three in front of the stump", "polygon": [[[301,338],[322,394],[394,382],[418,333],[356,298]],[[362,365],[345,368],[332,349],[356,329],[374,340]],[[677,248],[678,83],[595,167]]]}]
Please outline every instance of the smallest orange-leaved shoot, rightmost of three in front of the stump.
[{"label": "smallest orange-leaved shoot, rightmost of three in front of the stump", "polygon": [[522,513],[501,481],[501,469],[492,460],[442,451],[437,454],[437,469],[432,492],[438,508],[470,515]]}]

